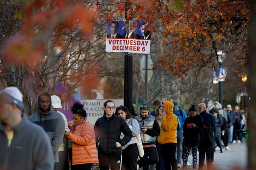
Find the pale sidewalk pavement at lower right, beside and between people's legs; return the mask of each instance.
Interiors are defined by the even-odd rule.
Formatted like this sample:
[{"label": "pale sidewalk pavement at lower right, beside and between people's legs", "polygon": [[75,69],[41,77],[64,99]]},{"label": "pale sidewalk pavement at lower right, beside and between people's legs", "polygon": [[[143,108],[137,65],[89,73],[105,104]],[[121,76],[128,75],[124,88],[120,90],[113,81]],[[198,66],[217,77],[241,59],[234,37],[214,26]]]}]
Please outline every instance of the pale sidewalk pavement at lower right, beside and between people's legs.
[{"label": "pale sidewalk pavement at lower right, beside and between people's legs", "polygon": [[[241,144],[236,142],[235,144],[229,144],[229,147],[231,150],[223,149],[223,153],[220,153],[220,150],[215,151],[212,170],[246,170],[248,148],[245,139]],[[188,161],[192,164],[191,153]],[[206,170],[206,161],[204,164],[204,170]],[[192,165],[187,166],[186,169],[192,170]],[[178,170],[182,170],[182,168],[178,168]],[[198,170],[198,163],[196,170]]]}]

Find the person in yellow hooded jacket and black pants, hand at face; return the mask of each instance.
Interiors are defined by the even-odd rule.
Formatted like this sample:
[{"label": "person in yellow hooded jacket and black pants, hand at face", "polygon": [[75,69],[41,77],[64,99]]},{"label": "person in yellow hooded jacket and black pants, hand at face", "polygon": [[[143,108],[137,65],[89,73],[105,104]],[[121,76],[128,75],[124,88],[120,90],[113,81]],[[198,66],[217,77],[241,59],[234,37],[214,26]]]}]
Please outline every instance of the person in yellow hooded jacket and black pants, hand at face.
[{"label": "person in yellow hooded jacket and black pants, hand at face", "polygon": [[172,113],[173,102],[164,101],[161,105],[163,119],[161,121],[160,136],[157,137],[158,143],[161,144],[163,162],[166,170],[177,170],[176,163],[176,129],[178,125],[177,116]]}]

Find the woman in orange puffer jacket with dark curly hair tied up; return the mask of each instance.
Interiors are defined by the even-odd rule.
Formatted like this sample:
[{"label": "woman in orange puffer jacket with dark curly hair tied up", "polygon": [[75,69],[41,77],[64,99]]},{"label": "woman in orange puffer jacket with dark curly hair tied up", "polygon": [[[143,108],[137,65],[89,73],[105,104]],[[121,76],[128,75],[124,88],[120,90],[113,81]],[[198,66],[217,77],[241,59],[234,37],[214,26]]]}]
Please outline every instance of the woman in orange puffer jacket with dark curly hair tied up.
[{"label": "woman in orange puffer jacket with dark curly hair tied up", "polygon": [[71,108],[74,125],[65,136],[72,142],[72,170],[90,170],[93,163],[99,163],[93,126],[85,122],[84,105],[75,102]]}]

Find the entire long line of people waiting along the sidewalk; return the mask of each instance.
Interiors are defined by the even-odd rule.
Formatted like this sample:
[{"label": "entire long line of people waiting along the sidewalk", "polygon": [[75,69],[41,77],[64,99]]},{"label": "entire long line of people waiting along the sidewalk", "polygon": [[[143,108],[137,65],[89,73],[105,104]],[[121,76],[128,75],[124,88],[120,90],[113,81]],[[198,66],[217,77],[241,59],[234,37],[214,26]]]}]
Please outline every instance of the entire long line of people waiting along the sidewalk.
[{"label": "entire long line of people waiting along the sidewalk", "polygon": [[[214,152],[230,150],[230,143],[243,142],[246,110],[223,109],[219,102],[208,111],[205,103],[192,105],[188,113],[179,102],[156,100],[154,111],[140,105],[132,115],[112,100],[94,127],[86,122],[81,101],[58,82],[55,95],[38,95],[35,113],[23,113],[23,95],[16,87],[0,91],[0,169],[3,170],[186,170],[192,150],[195,170],[214,161]],[[138,138],[143,148],[138,148]],[[144,154],[139,154],[139,149]]]}]

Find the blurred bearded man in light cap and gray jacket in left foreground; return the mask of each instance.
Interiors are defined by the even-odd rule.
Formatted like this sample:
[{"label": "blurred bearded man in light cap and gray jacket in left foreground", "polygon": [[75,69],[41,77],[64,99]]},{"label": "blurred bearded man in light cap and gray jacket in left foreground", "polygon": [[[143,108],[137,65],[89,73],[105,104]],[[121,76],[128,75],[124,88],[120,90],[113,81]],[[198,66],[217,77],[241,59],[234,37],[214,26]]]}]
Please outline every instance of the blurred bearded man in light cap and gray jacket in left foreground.
[{"label": "blurred bearded man in light cap and gray jacket in left foreground", "polygon": [[53,151],[44,129],[27,120],[16,87],[0,91],[0,169],[53,170]]}]

